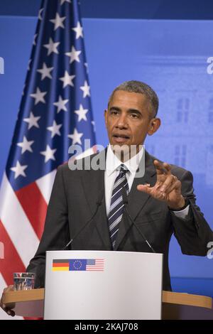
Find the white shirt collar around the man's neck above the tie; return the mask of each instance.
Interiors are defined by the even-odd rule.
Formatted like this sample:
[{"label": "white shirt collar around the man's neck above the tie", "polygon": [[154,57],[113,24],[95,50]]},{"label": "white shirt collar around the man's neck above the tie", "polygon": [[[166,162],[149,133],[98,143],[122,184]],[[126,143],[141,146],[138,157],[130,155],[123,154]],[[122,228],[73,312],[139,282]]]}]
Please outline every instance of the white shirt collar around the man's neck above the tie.
[{"label": "white shirt collar around the man's neck above the tie", "polygon": [[143,149],[143,146],[142,146],[142,149],[135,156],[133,156],[131,159],[129,159],[128,161],[125,161],[125,163],[123,163],[113,153],[113,151],[111,149],[111,145],[109,144],[108,148],[107,148],[107,162],[106,162],[107,176],[110,176],[111,173],[113,173],[115,170],[119,169],[119,166],[121,166],[121,163],[123,163],[124,166],[126,166],[126,168],[128,168],[130,173],[136,173],[136,171],[138,169],[139,162],[141,161],[141,158],[143,156],[143,152],[144,152],[144,149]]}]

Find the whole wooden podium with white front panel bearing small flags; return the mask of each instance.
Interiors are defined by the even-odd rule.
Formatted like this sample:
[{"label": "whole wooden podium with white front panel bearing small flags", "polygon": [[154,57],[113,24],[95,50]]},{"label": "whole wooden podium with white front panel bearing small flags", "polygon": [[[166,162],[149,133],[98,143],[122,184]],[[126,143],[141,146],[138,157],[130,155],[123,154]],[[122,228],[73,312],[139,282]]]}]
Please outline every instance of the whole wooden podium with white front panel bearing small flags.
[{"label": "whole wooden podium with white front panel bearing small flags", "polygon": [[210,297],[162,295],[162,269],[163,254],[46,252],[45,289],[6,291],[3,302],[47,320],[213,319]]}]

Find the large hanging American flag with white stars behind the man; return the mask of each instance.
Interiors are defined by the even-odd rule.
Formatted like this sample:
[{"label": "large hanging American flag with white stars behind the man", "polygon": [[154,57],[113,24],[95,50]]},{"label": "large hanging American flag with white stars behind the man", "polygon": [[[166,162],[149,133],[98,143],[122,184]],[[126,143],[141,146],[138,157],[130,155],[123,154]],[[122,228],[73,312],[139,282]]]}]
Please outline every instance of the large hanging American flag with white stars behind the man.
[{"label": "large hanging American flag with white stars behind the man", "polygon": [[[25,271],[43,232],[56,168],[94,122],[77,0],[44,0],[0,193],[0,288]],[[82,149],[84,149],[82,147]]]}]

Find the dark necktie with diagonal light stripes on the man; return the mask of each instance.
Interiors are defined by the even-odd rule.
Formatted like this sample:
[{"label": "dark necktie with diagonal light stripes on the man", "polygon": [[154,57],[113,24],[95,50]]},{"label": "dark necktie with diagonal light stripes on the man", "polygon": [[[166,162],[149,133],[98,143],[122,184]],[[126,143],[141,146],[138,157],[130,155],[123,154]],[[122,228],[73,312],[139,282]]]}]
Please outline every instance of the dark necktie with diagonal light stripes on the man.
[{"label": "dark necktie with diagonal light stripes on the man", "polygon": [[124,212],[124,202],[122,196],[122,189],[126,190],[126,194],[129,194],[129,185],[126,180],[126,173],[129,170],[125,169],[125,166],[121,164],[119,175],[114,181],[114,187],[111,194],[111,203],[109,209],[109,235],[113,249],[116,244],[116,237],[119,232],[119,222],[121,221]]}]

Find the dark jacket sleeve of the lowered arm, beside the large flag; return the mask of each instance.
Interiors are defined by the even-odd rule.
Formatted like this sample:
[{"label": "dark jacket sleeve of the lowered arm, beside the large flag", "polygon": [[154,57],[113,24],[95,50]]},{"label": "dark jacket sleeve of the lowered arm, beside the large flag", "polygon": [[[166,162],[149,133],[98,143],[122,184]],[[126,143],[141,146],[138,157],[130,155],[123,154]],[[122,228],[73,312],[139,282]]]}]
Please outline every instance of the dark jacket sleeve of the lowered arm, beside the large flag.
[{"label": "dark jacket sleeve of the lowered arm, beside the large flag", "polygon": [[45,219],[43,236],[38,250],[31,259],[26,271],[35,273],[35,288],[45,285],[45,252],[63,249],[69,242],[67,198],[62,175],[62,166],[58,168],[50,196],[48,212]]}]

